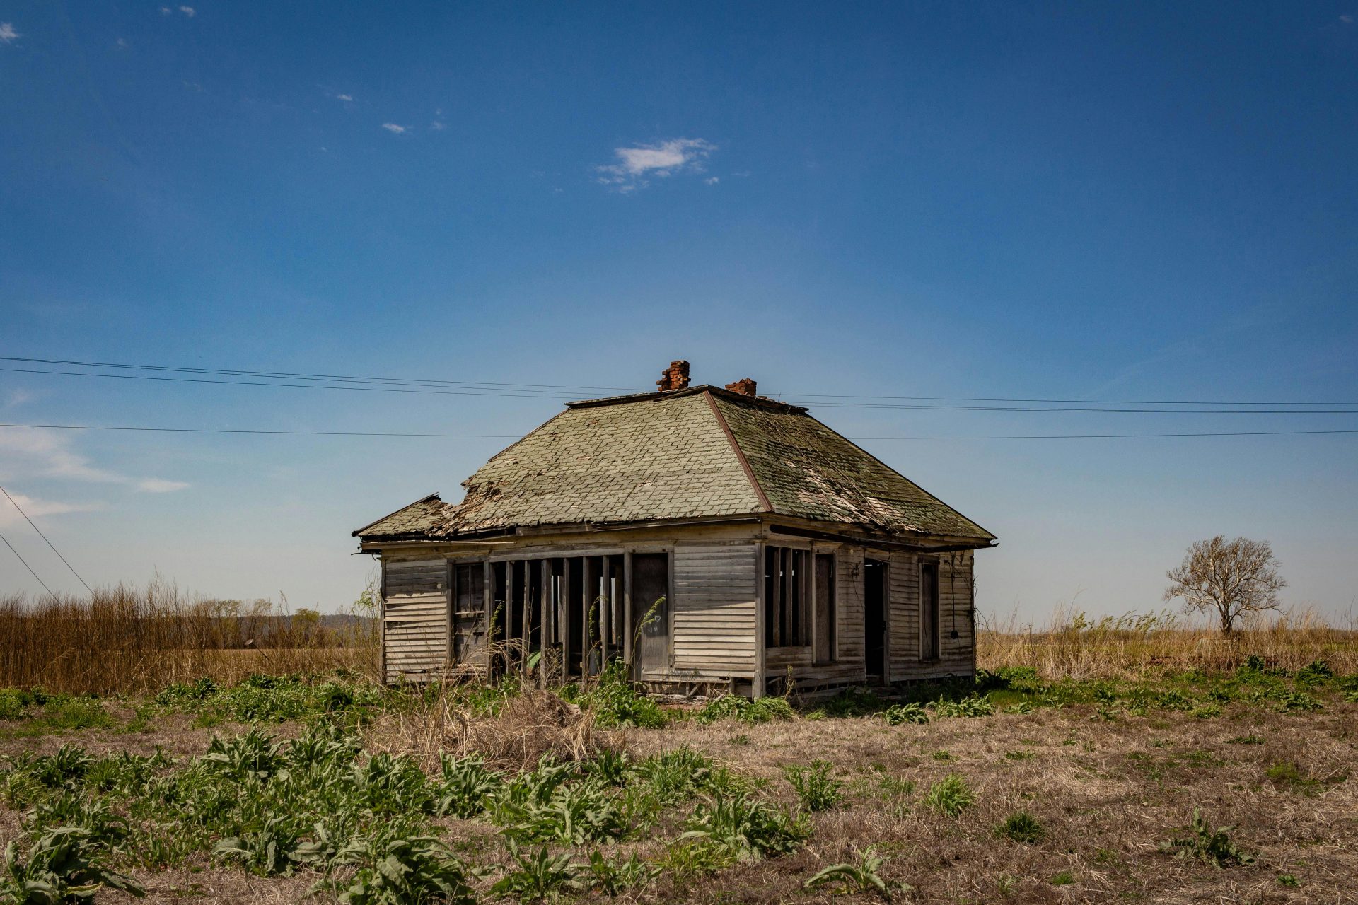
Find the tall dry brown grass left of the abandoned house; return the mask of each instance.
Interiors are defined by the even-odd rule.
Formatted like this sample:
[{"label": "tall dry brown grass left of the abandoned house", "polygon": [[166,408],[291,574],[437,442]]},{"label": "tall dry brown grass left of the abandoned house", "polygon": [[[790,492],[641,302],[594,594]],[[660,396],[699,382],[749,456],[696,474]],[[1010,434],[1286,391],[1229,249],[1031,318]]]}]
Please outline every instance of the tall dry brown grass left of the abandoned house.
[{"label": "tall dry brown grass left of the abandoned house", "polygon": [[376,625],[326,624],[270,601],[190,598],[172,583],[118,585],[90,597],[0,597],[0,687],[145,693],[255,672],[376,673]]}]

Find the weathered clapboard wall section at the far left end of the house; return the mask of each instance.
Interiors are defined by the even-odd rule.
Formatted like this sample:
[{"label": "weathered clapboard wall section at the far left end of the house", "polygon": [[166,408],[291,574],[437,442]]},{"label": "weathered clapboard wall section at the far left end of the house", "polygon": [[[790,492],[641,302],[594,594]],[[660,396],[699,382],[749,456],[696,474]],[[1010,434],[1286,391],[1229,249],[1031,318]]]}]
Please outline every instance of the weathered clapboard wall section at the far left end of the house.
[{"label": "weathered clapboard wall section at the far left end of the house", "polygon": [[448,560],[383,563],[383,647],[387,681],[428,678],[448,659]]}]

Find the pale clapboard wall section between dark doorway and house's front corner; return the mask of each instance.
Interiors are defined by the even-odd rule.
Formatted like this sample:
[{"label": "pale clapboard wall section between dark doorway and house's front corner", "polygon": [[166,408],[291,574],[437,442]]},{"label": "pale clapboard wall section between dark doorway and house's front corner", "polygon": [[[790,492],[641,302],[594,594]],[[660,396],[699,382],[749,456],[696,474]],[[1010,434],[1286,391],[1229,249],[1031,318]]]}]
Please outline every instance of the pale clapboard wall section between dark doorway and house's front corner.
[{"label": "pale clapboard wall section between dark doorway and house's front corner", "polygon": [[756,550],[752,543],[675,545],[675,669],[754,676]]}]

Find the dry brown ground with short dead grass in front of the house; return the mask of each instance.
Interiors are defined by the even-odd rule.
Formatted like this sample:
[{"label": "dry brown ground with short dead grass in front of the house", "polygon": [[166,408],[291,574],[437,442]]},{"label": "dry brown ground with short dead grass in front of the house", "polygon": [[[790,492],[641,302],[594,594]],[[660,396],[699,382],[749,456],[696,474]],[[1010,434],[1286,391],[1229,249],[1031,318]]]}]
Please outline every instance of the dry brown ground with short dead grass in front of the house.
[{"label": "dry brown ground with short dead grass in front of the house", "polygon": [[[92,752],[148,753],[163,745],[186,756],[201,753],[212,731],[236,729],[193,729],[172,718],[147,733],[5,738],[0,753],[49,752],[75,741]],[[869,901],[808,891],[803,883],[873,845],[887,858],[881,877],[910,887],[899,886],[894,901],[1358,902],[1358,780],[1350,777],[1358,763],[1358,704],[1286,715],[1240,704],[1211,719],[1156,712],[1107,720],[1092,707],[1066,707],[894,727],[866,718],[682,722],[623,730],[615,742],[637,756],[689,745],[766,779],[767,794],[788,803],[796,796],[781,768],[822,758],[834,765],[846,795],[842,806],[813,815],[811,839],[793,855],[698,879],[663,877],[619,897],[626,901]],[[1279,764],[1296,769],[1274,769],[1270,777]],[[948,773],[961,775],[975,796],[957,817],[922,801]],[[1255,862],[1217,868],[1162,853],[1161,843],[1187,826],[1195,807],[1214,828],[1230,826],[1232,841]],[[1040,843],[997,836],[995,826],[1020,810],[1046,830]],[[0,836],[16,828],[16,814],[0,814]],[[456,821],[445,829],[464,845],[493,833]],[[314,882],[230,868],[137,879],[151,902],[295,902]],[[100,894],[99,901],[122,898]]]}]

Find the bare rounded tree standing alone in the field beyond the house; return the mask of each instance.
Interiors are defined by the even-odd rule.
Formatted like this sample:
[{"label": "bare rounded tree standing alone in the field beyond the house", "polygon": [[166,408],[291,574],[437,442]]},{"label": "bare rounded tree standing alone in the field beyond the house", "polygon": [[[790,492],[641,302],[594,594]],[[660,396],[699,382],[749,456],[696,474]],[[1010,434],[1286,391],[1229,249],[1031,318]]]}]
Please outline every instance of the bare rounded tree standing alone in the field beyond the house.
[{"label": "bare rounded tree standing alone in the field beyond the house", "polygon": [[1173,582],[1165,600],[1183,597],[1190,613],[1215,611],[1221,634],[1229,635],[1241,613],[1278,609],[1278,592],[1287,586],[1278,564],[1267,540],[1226,540],[1221,535],[1199,540],[1177,569],[1165,573]]}]

